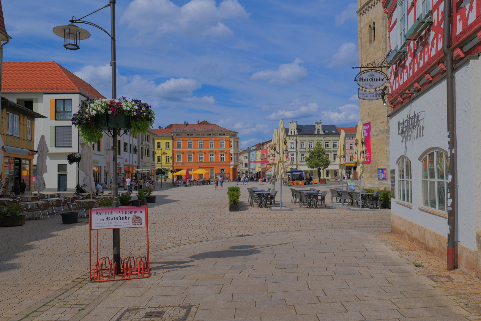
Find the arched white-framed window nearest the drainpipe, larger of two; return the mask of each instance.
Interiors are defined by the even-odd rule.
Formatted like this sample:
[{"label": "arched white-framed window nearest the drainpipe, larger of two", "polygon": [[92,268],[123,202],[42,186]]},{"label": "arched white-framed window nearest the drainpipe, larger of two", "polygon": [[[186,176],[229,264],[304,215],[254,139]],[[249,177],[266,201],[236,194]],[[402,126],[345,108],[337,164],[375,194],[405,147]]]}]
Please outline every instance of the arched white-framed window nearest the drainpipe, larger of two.
[{"label": "arched white-framed window nearest the drainpipe, larger of two", "polygon": [[432,151],[421,161],[422,205],[446,211],[448,155]]}]

